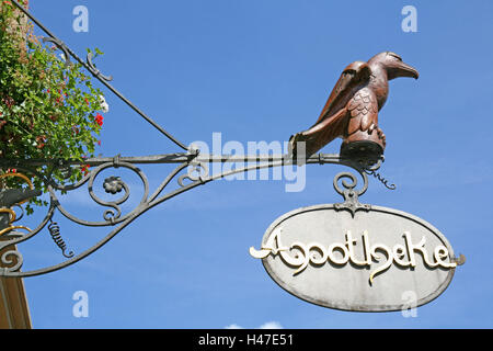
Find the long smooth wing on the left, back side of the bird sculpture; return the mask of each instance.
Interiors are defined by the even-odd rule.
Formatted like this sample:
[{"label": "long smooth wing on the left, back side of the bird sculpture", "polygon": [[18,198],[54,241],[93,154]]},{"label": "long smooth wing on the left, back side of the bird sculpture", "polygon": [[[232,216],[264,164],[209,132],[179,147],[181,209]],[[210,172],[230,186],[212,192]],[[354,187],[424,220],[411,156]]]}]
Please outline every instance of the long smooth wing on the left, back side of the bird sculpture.
[{"label": "long smooth wing on the left, back side of the bird sculpture", "polygon": [[351,91],[355,87],[368,81],[370,76],[371,69],[366,63],[355,61],[347,66],[335,83],[335,87],[314,125],[344,107],[351,98]]}]

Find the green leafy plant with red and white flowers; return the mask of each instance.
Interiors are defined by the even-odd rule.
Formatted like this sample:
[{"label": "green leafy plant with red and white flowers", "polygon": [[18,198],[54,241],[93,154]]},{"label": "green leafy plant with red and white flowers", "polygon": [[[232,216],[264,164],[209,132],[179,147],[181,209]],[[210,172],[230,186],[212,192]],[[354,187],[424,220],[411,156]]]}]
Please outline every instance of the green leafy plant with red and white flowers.
[{"label": "green leafy plant with red and white flowers", "polygon": [[[9,1],[0,5],[0,158],[77,159],[93,157],[103,117],[103,93],[93,87],[80,64],[66,63],[60,50],[41,44],[32,26],[21,33],[19,11]],[[12,30],[12,29],[15,30]],[[20,35],[21,34],[21,35]],[[95,49],[94,57],[102,54]],[[5,172],[8,170],[3,170]],[[12,170],[10,170],[12,171]],[[48,168],[38,168],[46,174]],[[68,179],[60,171],[59,183],[74,182],[88,172],[76,168]],[[32,177],[32,174],[28,174]],[[0,186],[20,188],[19,178],[4,178]],[[34,186],[46,191],[33,179]],[[32,200],[30,205],[46,205]],[[32,213],[32,206],[26,207]]]}]

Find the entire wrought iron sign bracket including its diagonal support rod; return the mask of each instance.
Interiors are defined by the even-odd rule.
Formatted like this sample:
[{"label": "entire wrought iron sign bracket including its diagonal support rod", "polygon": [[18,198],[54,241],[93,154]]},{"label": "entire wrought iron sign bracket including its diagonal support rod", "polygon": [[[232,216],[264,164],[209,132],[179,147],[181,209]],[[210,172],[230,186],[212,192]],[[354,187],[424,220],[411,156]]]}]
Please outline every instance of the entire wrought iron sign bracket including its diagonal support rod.
[{"label": "entire wrought iron sign bracket including its diagonal support rod", "polygon": [[[295,166],[293,155],[265,155],[265,156],[231,156],[231,155],[203,155],[198,149],[193,147],[186,147],[185,144],[181,143],[177,138],[173,137],[170,133],[158,125],[152,118],[146,115],[141,110],[135,106],[129,100],[127,100],[121,92],[118,92],[113,86],[108,83],[112,77],[105,76],[98,70],[92,61],[91,54],[88,54],[87,60],[82,60],[77,56],[62,41],[57,38],[51,32],[49,32],[37,19],[35,19],[28,11],[26,11],[18,1],[12,0],[12,3],[16,5],[21,11],[23,11],[36,25],[38,25],[48,37],[45,42],[51,42],[66,54],[66,60],[69,63],[69,57],[80,63],[88,71],[90,71],[95,79],[103,83],[110,91],[116,94],[122,101],[124,101],[130,109],[137,112],[144,120],[150,123],[158,132],[163,134],[172,143],[174,143],[182,152],[175,154],[163,154],[153,155],[146,157],[124,157],[117,155],[115,157],[98,157],[85,159],[83,162],[79,160],[57,160],[57,159],[43,159],[43,160],[11,160],[11,159],[0,159],[1,169],[15,168],[18,170],[16,176],[12,177],[23,177],[22,174],[28,174],[28,177],[34,177],[39,179],[47,189],[49,193],[49,206],[47,207],[47,213],[45,217],[41,220],[36,228],[30,229],[27,227],[14,226],[13,223],[18,222],[23,217],[23,210],[19,205],[28,200],[30,196],[39,195],[38,191],[32,190],[33,193],[14,193],[16,190],[1,190],[0,194],[0,262],[3,268],[0,269],[1,276],[33,276],[49,273],[53,271],[60,270],[68,265],[71,265],[85,257],[90,256],[106,242],[108,242],[113,237],[115,237],[123,228],[129,225],[133,220],[138,218],[141,214],[148,210],[175,197],[188,190],[192,190],[198,185],[206,184],[208,182],[222,179],[225,177],[248,172],[257,169],[273,168],[273,167],[284,167],[284,166]],[[363,165],[351,158],[343,158],[340,155],[332,154],[318,154],[308,157],[305,160],[306,165],[341,165],[346,166],[355,170],[360,174],[364,181],[362,190],[356,190],[357,179],[354,174],[348,172],[343,172],[335,176],[334,189],[344,196],[345,202],[337,204],[337,210],[346,210],[354,214],[357,211],[368,211],[369,205],[360,204],[358,199],[363,195],[368,188],[368,174],[372,174],[378,178],[387,188],[394,189],[394,185],[387,185],[387,181],[381,178],[377,170],[381,166],[383,158],[371,166]],[[211,174],[208,172],[209,165],[220,162],[220,163],[242,163],[244,167],[239,167],[231,169],[226,172],[219,172],[217,174]],[[46,177],[38,171],[39,167],[48,167],[53,173],[56,170],[64,171],[67,174],[67,179],[70,177],[73,167],[80,167],[81,165],[91,166],[91,171],[84,176],[80,181],[72,184],[59,184],[53,178]],[[139,165],[176,165],[176,167],[161,181],[159,186],[150,193],[149,182],[146,174],[138,167]],[[104,179],[103,189],[107,194],[118,195],[119,197],[113,201],[107,201],[100,199],[94,192],[94,182],[96,178],[107,169],[126,169],[135,173],[139,179],[144,188],[144,194],[135,208],[124,214],[122,205],[129,199],[130,188],[121,178],[116,176],[111,176]],[[186,172],[185,172],[186,170]],[[352,180],[352,183],[347,183],[344,178]],[[28,178],[27,178],[28,179]],[[174,188],[172,188],[172,181],[176,180]],[[339,185],[339,180],[342,180],[342,189]],[[83,185],[88,186],[88,192],[90,197],[99,205],[105,207],[106,210],[102,214],[101,220],[87,220],[72,215],[67,208],[65,208],[59,199],[58,192],[70,192],[77,189],[81,189]],[[9,193],[10,191],[10,193]],[[9,195],[10,194],[10,195]],[[5,196],[13,196],[18,201],[11,203],[5,201]],[[15,197],[16,196],[16,197]],[[26,197],[27,196],[27,197]],[[19,207],[21,215],[16,215],[12,207]],[[54,220],[54,214],[59,212],[69,220],[90,227],[112,227],[112,230],[102,238],[99,242],[93,245],[91,248],[83,252],[73,252],[70,250],[69,245],[61,237],[60,227]],[[67,259],[66,261],[34,270],[21,270],[23,267],[23,256],[18,249],[18,245],[25,242],[34,238],[38,233],[41,233],[47,226],[53,241],[61,250],[62,256]],[[7,230],[5,230],[7,229]],[[21,233],[20,229],[26,231]]]}]

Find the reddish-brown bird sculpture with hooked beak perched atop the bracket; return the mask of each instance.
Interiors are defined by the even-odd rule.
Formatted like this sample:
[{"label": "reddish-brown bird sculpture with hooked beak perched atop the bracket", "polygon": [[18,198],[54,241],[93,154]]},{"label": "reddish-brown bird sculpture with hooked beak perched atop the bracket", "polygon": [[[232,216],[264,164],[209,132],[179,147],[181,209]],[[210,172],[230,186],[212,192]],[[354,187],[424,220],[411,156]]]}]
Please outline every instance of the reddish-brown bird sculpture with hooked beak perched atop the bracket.
[{"label": "reddish-brown bird sculpture with hooked beak perched atop the bracket", "polygon": [[378,112],[386,103],[389,80],[398,77],[417,79],[419,72],[390,52],[380,53],[368,63],[355,61],[347,66],[317,123],[290,137],[289,146],[295,159],[300,157],[297,141],[305,141],[308,158],[342,137],[342,157],[375,163],[386,147],[386,136],[378,127]]}]

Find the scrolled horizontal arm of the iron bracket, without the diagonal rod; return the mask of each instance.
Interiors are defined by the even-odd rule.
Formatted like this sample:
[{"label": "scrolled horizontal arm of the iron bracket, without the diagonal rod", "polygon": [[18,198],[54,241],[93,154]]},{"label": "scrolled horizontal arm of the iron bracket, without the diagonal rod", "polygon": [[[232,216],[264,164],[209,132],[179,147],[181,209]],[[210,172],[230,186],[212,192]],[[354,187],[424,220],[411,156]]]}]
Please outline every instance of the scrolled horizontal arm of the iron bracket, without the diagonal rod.
[{"label": "scrolled horizontal arm of the iron bracket, without the diagonal rod", "polygon": [[[208,170],[210,169],[210,163],[213,162],[240,162],[244,161],[245,165],[250,163],[243,168],[234,168],[228,170],[226,172],[221,172],[218,174],[209,174]],[[0,165],[5,163],[8,160],[0,160]],[[26,161],[25,163],[30,163]],[[183,192],[192,190],[198,185],[205,184],[207,182],[222,179],[227,176],[246,172],[254,169],[262,168],[272,168],[272,167],[283,167],[287,165],[293,165],[294,160],[289,158],[287,155],[280,156],[264,156],[264,157],[232,157],[232,156],[211,156],[211,155],[199,155],[199,154],[169,154],[169,155],[159,155],[159,156],[150,156],[150,157],[121,157],[119,155],[113,158],[94,158],[84,160],[84,165],[91,165],[91,171],[89,174],[83,177],[79,182],[68,185],[60,185],[56,183],[53,179],[46,178],[41,173],[35,171],[34,166],[38,166],[39,161],[32,161],[33,167],[28,165],[21,165],[21,162],[16,162],[15,167],[23,172],[31,174],[32,177],[39,177],[46,184],[48,189],[48,193],[50,196],[50,204],[48,208],[48,213],[46,217],[42,220],[38,227],[25,234],[21,237],[10,238],[5,242],[0,242],[0,249],[21,244],[25,240],[28,240],[37,233],[39,233],[45,226],[48,224],[48,230],[50,230],[51,238],[55,244],[62,250],[64,257],[67,258],[66,261],[37,270],[26,270],[20,271],[22,267],[22,254],[15,250],[14,252],[10,252],[10,256],[16,258],[14,260],[14,264],[11,268],[0,271],[0,275],[4,276],[32,276],[45,274],[48,272],[53,272],[65,267],[71,265],[94,251],[99,250],[102,246],[108,242],[114,236],[116,236],[123,228],[125,228],[133,220],[138,218],[142,213],[148,210],[157,206],[158,204],[168,201]],[[66,162],[51,162],[51,169],[66,169],[67,172],[70,172],[70,167],[78,167],[81,162],[77,161],[66,161]],[[138,163],[177,163],[177,166],[165,177],[165,179],[157,186],[152,194],[149,193],[149,184],[147,177],[142,172],[142,170],[137,167]],[[253,163],[253,165],[252,165]],[[356,189],[357,186],[357,178],[349,172],[339,173],[334,178],[334,189],[337,193],[344,196],[345,202],[342,204],[336,204],[337,210],[347,210],[354,214],[357,211],[367,211],[369,208],[368,205],[360,204],[358,197],[364,194],[368,188],[368,178],[363,169],[357,165],[352,162],[351,160],[341,159],[339,155],[316,155],[307,159],[307,165],[309,163],[319,163],[319,165],[342,165],[346,167],[353,168],[357,173],[363,177],[364,184],[362,189]],[[144,188],[144,194],[140,199],[140,202],[126,214],[122,211],[122,205],[129,199],[130,195],[130,186],[123,179],[123,177],[110,176],[105,177],[102,180],[102,191],[110,195],[117,195],[118,199],[113,201],[105,201],[100,199],[94,191],[94,184],[96,184],[96,179],[102,174],[103,171],[108,171],[111,169],[127,169],[131,171],[134,174],[140,178],[141,185]],[[177,179],[177,186],[172,186],[172,180]],[[347,181],[349,180],[349,181]],[[340,185],[342,183],[342,186]],[[64,207],[61,202],[58,199],[59,192],[69,192],[78,189],[82,189],[87,186],[87,191],[96,204],[103,207],[110,207],[105,210],[102,214],[103,220],[85,220],[79,217],[73,216],[67,208]],[[168,190],[170,188],[170,190]],[[168,190],[168,192],[165,192]],[[149,195],[150,194],[150,195]],[[51,224],[51,218],[55,212],[61,213],[69,220],[84,225],[84,226],[94,226],[94,227],[105,227],[113,226],[114,228],[99,242],[93,245],[91,248],[82,251],[78,254],[74,254],[71,251],[68,251],[67,245],[64,239],[59,236],[59,231],[56,230],[56,225]],[[55,230],[54,230],[55,229]],[[7,260],[7,257],[5,259]],[[10,260],[12,261],[12,260]],[[9,262],[10,262],[9,261]],[[13,261],[12,261],[13,262]]]}]

